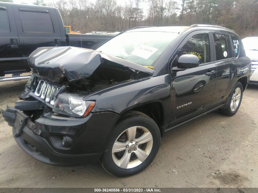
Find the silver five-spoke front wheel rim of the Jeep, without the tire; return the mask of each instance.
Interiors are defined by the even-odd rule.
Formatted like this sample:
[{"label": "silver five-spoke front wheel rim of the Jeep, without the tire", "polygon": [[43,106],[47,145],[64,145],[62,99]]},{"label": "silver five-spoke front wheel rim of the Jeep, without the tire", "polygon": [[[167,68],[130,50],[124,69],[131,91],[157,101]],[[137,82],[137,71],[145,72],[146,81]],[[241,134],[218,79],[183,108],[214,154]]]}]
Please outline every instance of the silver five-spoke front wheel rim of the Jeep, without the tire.
[{"label": "silver five-spoke front wheel rim of the Jeep, without the tire", "polygon": [[112,147],[114,163],[125,169],[139,166],[150,155],[153,145],[151,132],[141,126],[123,131]]}]

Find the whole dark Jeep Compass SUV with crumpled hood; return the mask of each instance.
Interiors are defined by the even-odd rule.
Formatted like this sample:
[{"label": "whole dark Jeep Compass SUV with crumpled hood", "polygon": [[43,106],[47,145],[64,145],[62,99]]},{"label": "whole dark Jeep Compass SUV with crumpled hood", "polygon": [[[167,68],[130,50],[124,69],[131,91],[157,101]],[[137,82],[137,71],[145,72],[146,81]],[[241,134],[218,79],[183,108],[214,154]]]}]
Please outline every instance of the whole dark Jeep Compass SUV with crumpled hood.
[{"label": "whole dark Jeep Compass SUV with crumpled hood", "polygon": [[100,160],[121,177],[151,164],[165,132],[237,113],[251,71],[239,36],[209,25],[127,30],[96,50],[38,48],[28,63],[20,100],[2,109],[17,144],[44,163]]}]

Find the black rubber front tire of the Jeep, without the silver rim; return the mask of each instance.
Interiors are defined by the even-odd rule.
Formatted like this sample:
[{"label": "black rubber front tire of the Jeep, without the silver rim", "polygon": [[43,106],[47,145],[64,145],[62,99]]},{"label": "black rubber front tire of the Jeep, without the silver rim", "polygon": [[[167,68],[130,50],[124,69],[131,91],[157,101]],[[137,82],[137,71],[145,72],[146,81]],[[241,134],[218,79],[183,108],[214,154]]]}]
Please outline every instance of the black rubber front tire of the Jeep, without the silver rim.
[{"label": "black rubber front tire of the Jeep, without the silver rim", "polygon": [[[141,163],[139,166],[136,166],[130,169],[123,169],[114,163],[112,159],[112,147],[114,145],[115,140],[118,138],[120,134],[122,134],[124,130],[134,126],[145,127],[151,132],[152,138],[153,138],[151,153],[149,154],[147,159],[145,159],[144,162]],[[160,140],[161,140],[161,136],[160,136],[160,131],[158,129],[158,126],[151,118],[137,116],[133,119],[125,119],[125,121],[122,121],[122,123],[118,124],[114,128],[113,132],[108,138],[105,151],[101,158],[101,163],[104,169],[108,173],[111,173],[112,175],[115,175],[118,177],[126,177],[126,176],[134,175],[136,173],[141,172],[151,164],[151,162],[153,161],[153,159],[155,158],[158,152],[158,149],[160,146]]]}]

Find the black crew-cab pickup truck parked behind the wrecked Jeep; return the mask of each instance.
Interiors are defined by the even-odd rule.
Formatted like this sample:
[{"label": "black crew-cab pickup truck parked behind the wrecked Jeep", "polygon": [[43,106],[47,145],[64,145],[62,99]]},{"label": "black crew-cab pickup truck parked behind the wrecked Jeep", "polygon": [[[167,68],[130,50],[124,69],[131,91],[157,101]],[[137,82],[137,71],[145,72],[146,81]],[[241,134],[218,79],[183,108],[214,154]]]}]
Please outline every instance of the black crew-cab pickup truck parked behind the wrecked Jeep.
[{"label": "black crew-cab pickup truck parked behind the wrecked Jeep", "polygon": [[75,46],[95,49],[106,34],[65,34],[58,9],[0,2],[0,77],[29,72],[28,56],[36,48]]}]

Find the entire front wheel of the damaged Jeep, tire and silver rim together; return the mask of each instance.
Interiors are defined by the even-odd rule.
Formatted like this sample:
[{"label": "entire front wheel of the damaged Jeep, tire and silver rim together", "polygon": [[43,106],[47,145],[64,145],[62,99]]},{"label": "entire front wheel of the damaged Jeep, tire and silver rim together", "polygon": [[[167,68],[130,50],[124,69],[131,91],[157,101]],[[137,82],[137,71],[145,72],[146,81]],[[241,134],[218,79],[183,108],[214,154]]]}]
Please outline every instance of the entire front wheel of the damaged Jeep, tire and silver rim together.
[{"label": "entire front wheel of the damaged Jeep, tire and silver rim together", "polygon": [[125,114],[107,139],[100,160],[103,168],[118,177],[141,172],[155,158],[161,135],[157,124],[138,111]]}]

